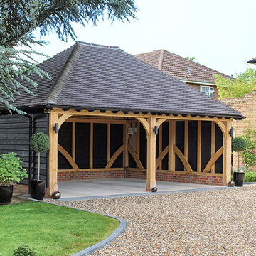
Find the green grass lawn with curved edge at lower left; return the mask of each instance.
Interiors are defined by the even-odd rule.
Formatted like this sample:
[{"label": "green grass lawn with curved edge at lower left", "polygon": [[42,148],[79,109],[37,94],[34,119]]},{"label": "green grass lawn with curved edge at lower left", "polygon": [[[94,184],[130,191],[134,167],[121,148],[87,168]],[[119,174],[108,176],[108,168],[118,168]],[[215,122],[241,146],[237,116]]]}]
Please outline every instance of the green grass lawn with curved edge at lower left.
[{"label": "green grass lawn with curved edge at lower left", "polygon": [[118,226],[113,218],[48,203],[0,206],[0,254],[13,255],[16,247],[28,245],[36,256],[72,255],[104,240]]}]

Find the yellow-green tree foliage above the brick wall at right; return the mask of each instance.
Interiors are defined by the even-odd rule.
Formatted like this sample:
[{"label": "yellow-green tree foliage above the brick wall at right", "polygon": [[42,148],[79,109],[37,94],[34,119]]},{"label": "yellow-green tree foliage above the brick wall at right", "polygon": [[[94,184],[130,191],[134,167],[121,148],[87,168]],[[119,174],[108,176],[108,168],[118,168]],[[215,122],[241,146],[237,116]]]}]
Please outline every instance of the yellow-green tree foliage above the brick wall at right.
[{"label": "yellow-green tree foliage above the brick wall at right", "polygon": [[220,99],[229,97],[244,97],[256,89],[256,70],[248,68],[237,74],[237,78],[225,79],[221,75],[213,75]]}]

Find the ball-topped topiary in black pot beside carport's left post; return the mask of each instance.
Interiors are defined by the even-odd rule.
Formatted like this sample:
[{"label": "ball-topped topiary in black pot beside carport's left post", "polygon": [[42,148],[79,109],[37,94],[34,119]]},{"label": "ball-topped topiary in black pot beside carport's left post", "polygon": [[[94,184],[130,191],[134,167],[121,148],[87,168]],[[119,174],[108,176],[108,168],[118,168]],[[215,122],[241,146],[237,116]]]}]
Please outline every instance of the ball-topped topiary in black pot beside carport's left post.
[{"label": "ball-topped topiary in black pot beside carport's left post", "polygon": [[46,181],[40,180],[40,153],[47,152],[50,149],[50,138],[43,132],[33,134],[30,141],[32,151],[38,153],[38,174],[37,179],[31,181],[31,197],[33,199],[43,200],[46,193]]}]

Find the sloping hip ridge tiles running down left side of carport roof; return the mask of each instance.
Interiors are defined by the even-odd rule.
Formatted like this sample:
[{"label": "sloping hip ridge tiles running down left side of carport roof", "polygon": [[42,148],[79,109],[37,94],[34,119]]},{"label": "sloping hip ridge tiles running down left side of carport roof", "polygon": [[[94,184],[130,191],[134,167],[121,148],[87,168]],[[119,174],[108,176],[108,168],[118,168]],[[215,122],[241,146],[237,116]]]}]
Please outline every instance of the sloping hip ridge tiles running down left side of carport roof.
[{"label": "sloping hip ridge tiles running down left side of carport roof", "polygon": [[73,65],[75,64],[75,60],[78,58],[78,53],[80,52],[80,43],[77,42],[75,45],[71,46],[74,47],[71,51],[70,55],[68,56],[68,60],[63,65],[63,68],[58,75],[58,78],[55,80],[53,86],[51,87],[48,95],[43,103],[45,104],[56,104],[58,100],[58,96],[60,95],[60,91],[65,85],[65,80],[68,77],[70,70],[72,70]]}]

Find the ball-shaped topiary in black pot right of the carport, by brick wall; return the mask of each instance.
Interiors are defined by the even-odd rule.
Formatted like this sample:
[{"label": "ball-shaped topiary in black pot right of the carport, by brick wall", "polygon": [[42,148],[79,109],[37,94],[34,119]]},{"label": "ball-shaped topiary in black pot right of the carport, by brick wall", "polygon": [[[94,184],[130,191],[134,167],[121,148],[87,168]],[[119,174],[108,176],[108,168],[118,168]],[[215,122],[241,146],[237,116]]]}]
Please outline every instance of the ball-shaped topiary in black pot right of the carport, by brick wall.
[{"label": "ball-shaped topiary in black pot right of the carport, by brick wall", "polygon": [[238,172],[234,172],[234,182],[235,186],[242,186],[245,179],[245,172],[243,169],[240,169],[240,156],[241,151],[245,151],[246,142],[242,137],[235,137],[232,141],[232,149],[235,152],[238,152]]}]

